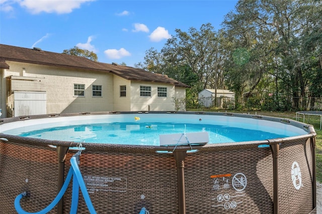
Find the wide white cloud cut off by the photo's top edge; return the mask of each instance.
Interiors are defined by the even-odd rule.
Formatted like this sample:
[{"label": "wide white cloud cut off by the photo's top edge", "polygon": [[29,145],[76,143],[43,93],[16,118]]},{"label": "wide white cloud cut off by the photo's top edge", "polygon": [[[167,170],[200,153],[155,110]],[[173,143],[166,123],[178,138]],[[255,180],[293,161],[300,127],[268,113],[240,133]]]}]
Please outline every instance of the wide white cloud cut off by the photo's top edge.
[{"label": "wide white cloud cut off by the photo's top edge", "polygon": [[68,14],[72,10],[80,8],[83,3],[91,2],[94,0],[21,0],[19,2],[21,7],[27,8],[32,14],[57,13]]}]

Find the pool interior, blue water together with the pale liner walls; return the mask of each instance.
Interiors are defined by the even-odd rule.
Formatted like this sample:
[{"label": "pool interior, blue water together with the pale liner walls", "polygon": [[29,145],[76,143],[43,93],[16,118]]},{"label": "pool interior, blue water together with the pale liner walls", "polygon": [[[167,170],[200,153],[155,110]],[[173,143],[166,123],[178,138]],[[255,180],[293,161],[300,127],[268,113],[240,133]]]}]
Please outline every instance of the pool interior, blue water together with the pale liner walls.
[{"label": "pool interior, blue water together with the pale liner walls", "polygon": [[159,135],[208,132],[209,143],[284,138],[302,129],[265,120],[224,116],[143,114],[62,117],[0,126],[0,132],[22,137],[103,144],[159,146]]}]

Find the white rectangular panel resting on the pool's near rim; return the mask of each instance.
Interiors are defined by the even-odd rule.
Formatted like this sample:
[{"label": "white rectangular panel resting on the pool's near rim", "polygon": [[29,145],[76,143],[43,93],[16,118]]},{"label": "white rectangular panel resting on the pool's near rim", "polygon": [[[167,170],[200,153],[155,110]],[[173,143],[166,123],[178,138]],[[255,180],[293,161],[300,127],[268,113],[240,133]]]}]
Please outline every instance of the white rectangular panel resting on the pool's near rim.
[{"label": "white rectangular panel resting on the pool's near rim", "polygon": [[204,145],[209,142],[208,132],[191,132],[181,134],[159,135],[160,146]]}]

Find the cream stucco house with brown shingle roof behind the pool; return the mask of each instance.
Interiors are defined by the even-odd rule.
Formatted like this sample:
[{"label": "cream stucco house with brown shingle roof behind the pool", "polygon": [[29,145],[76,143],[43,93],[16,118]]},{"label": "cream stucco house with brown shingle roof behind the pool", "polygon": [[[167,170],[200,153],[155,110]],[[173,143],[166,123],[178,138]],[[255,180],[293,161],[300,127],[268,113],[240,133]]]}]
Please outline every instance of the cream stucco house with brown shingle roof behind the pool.
[{"label": "cream stucco house with brown shingle roof behind the pool", "polygon": [[0,44],[0,75],[2,118],[176,111],[174,99],[185,97],[189,87],[143,69],[3,44]]}]

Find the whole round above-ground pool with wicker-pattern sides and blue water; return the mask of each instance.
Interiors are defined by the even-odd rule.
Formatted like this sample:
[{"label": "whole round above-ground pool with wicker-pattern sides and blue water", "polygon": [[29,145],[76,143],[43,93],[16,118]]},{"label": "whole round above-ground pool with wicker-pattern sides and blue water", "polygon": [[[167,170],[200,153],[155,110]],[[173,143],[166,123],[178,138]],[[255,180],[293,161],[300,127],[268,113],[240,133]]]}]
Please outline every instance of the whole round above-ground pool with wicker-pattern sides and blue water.
[{"label": "whole round above-ground pool with wicker-pattern sides and blue water", "polygon": [[[160,146],[160,136],[208,133],[209,142]],[[316,208],[312,126],[260,115],[110,112],[0,121],[0,200],[25,192],[36,212],[79,170],[97,213],[309,213]],[[181,138],[180,138],[181,139]],[[67,160],[67,161],[66,161]],[[72,168],[72,167],[71,167]],[[67,175],[67,177],[66,177]],[[89,213],[79,194],[77,213]],[[84,199],[85,198],[85,199]],[[75,207],[71,185],[49,213]]]}]

